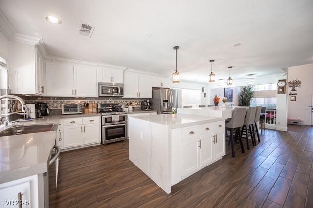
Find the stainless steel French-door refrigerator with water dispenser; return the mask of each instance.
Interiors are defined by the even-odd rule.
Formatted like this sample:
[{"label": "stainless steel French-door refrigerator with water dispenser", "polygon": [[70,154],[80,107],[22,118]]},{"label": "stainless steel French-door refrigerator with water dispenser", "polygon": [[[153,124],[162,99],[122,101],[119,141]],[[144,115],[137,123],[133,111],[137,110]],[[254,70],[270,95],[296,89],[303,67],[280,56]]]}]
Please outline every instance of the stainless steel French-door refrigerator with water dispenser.
[{"label": "stainless steel French-door refrigerator with water dispenser", "polygon": [[157,114],[172,113],[178,107],[178,90],[160,88],[152,91],[152,109]]}]

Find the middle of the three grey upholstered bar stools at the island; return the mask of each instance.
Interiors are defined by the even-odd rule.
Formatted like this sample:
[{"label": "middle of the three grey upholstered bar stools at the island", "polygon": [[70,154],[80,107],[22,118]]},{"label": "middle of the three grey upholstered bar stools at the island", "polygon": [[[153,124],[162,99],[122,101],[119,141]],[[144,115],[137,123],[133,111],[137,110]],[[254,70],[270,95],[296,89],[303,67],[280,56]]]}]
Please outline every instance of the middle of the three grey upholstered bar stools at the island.
[{"label": "middle of the three grey upholstered bar stools at the island", "polygon": [[256,112],[256,107],[249,107],[248,108],[248,111],[246,113],[246,118],[244,121],[244,125],[241,129],[241,136],[245,135],[244,138],[246,138],[246,148],[247,149],[250,149],[250,147],[249,147],[249,136],[251,137],[252,145],[255,146],[254,136],[253,136],[252,128],[251,128],[251,125],[254,124],[255,112]]}]

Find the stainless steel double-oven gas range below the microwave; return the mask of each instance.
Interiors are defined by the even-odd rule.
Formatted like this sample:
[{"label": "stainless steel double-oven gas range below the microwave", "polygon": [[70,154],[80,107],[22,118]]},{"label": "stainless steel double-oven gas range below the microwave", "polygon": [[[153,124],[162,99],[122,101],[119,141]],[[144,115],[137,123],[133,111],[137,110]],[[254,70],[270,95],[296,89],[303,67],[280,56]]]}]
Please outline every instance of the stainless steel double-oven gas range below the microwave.
[{"label": "stainless steel double-oven gas range below the microwave", "polygon": [[119,104],[98,104],[101,113],[102,144],[127,139],[127,113]]}]

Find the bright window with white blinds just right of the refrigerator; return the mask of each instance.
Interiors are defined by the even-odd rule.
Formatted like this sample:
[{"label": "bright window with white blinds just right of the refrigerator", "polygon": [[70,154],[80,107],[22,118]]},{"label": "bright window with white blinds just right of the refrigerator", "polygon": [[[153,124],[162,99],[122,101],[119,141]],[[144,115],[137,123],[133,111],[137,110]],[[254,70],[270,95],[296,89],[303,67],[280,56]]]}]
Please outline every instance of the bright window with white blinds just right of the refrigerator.
[{"label": "bright window with white blinds just right of the refrigerator", "polygon": [[197,89],[179,89],[181,90],[181,107],[192,105],[198,107],[201,105],[201,90]]}]

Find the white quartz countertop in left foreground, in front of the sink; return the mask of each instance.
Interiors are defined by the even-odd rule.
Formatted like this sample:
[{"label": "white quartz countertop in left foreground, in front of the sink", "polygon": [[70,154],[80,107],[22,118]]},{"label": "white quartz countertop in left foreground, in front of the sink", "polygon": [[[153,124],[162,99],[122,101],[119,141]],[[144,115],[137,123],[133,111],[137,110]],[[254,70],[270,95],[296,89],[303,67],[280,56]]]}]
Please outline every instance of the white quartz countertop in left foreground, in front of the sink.
[{"label": "white quartz countertop in left foreground, in front of the sink", "polygon": [[47,172],[57,132],[0,137],[0,183]]}]

